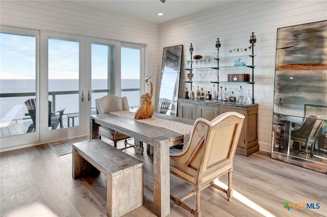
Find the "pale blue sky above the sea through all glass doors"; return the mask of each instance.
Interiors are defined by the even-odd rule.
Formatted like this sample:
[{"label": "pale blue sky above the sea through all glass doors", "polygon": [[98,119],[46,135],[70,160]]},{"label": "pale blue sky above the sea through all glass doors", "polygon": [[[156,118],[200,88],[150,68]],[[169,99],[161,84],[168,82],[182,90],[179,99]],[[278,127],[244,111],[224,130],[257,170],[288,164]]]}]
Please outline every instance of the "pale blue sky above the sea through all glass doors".
[{"label": "pale blue sky above the sea through all glass doors", "polygon": [[[49,79],[79,78],[79,42],[48,40]],[[106,79],[108,49],[91,46],[92,79]],[[0,33],[0,79],[35,79],[35,37]],[[122,79],[139,79],[139,50],[122,47]]]}]

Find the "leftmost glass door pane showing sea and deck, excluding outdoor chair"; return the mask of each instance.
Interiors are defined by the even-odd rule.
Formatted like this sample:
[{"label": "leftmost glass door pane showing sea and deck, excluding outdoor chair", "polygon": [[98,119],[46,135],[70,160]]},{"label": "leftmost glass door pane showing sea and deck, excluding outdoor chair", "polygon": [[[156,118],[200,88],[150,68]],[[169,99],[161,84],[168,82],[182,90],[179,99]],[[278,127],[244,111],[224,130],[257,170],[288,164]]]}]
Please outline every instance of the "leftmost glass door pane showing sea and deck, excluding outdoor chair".
[{"label": "leftmost glass door pane showing sea and deck, excluding outdoor chair", "polygon": [[33,132],[25,101],[35,98],[36,38],[0,33],[0,47],[0,137]]}]

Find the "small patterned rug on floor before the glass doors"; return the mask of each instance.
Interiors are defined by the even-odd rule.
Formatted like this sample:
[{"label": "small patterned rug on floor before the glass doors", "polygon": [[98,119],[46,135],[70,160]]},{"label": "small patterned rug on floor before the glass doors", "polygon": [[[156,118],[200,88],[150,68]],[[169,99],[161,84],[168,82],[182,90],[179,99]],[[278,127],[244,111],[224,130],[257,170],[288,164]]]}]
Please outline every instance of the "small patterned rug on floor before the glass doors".
[{"label": "small patterned rug on floor before the glass doors", "polygon": [[73,150],[73,144],[80,141],[86,141],[89,139],[89,136],[80,136],[71,139],[63,139],[60,141],[48,142],[52,150],[58,155],[71,154]]}]

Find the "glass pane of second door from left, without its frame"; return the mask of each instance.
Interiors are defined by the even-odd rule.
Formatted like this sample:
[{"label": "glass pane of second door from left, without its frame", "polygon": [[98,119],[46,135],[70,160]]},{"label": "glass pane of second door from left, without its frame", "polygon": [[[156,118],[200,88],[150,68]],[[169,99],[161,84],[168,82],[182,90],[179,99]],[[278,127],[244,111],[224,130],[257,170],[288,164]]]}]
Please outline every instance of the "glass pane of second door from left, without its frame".
[{"label": "glass pane of second door from left, without its frame", "polygon": [[[48,44],[49,130],[78,126],[79,41],[49,38]],[[60,112],[52,113],[63,109],[63,116]],[[69,118],[69,126],[67,115],[74,116]]]}]

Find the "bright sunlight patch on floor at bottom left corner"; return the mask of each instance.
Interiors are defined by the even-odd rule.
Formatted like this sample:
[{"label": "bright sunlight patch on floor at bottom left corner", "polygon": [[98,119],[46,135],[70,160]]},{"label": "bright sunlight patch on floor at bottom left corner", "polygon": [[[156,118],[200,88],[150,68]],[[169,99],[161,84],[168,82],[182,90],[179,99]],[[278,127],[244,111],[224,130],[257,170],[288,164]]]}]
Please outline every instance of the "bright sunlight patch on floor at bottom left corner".
[{"label": "bright sunlight patch on floor at bottom left corner", "polygon": [[5,215],[6,217],[17,217],[17,216],[42,216],[42,217],[58,217],[50,208],[46,207],[41,202],[34,202],[32,204],[26,204],[19,206],[19,209],[12,210]]}]

